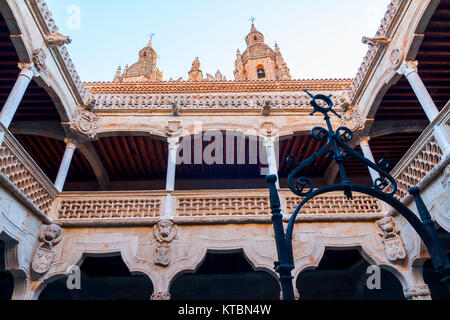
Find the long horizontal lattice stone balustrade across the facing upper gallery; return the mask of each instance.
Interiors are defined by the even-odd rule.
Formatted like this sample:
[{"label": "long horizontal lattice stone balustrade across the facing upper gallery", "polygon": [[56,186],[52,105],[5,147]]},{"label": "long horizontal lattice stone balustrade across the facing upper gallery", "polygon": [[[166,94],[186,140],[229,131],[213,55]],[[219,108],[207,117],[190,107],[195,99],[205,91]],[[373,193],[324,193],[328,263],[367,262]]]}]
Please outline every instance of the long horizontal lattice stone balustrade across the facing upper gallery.
[{"label": "long horizontal lattice stone balustrade across the facing upper gallery", "polygon": [[[52,210],[52,218],[62,225],[153,224],[164,215],[166,195],[172,197],[172,216],[180,223],[270,223],[268,190],[196,190],[140,192],[64,192]],[[301,199],[290,190],[280,190],[282,209],[292,213]],[[306,206],[299,219],[350,219],[379,217],[376,199],[355,194],[348,201],[342,192],[319,196]],[[286,215],[287,217],[287,215]]]}]

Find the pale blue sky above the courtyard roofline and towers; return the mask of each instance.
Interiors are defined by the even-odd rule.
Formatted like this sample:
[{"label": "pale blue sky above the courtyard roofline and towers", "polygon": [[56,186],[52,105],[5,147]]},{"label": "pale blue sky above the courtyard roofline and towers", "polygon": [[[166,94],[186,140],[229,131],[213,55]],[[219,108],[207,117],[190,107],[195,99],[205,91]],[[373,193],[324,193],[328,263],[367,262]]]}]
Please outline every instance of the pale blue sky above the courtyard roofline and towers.
[{"label": "pale blue sky above the courtyard roofline and towers", "polygon": [[[351,78],[389,0],[47,0],[83,81],[111,81],[133,64],[156,33],[153,47],[164,79],[187,78],[200,58],[203,73],[219,69],[233,80],[236,50],[245,50],[249,18],[266,43],[280,46],[295,79]],[[67,9],[80,8],[80,28]]]}]

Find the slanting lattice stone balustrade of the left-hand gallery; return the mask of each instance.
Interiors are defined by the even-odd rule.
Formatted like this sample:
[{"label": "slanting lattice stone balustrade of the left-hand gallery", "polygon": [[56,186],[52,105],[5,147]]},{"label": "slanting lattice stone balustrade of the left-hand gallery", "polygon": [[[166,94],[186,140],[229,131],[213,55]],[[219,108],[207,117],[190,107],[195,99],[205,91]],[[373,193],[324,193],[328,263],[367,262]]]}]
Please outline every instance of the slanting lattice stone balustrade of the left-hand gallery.
[{"label": "slanting lattice stone balustrade of the left-hand gallery", "polygon": [[0,146],[0,172],[15,186],[20,196],[28,198],[38,210],[48,215],[58,191],[20,143],[1,124],[0,130],[4,134]]}]

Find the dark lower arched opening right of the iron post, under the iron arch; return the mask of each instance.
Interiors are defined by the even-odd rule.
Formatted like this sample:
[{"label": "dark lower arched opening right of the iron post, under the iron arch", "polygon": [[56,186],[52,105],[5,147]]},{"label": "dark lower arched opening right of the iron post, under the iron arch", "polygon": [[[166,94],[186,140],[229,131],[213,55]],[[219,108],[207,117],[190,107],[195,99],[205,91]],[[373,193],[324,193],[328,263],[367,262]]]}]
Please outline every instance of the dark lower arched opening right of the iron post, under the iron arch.
[{"label": "dark lower arched opening right of the iron post, under the iron arch", "polygon": [[370,290],[369,264],[357,249],[327,249],[315,270],[305,270],[297,278],[301,300],[403,300],[397,278],[381,269],[380,289]]}]

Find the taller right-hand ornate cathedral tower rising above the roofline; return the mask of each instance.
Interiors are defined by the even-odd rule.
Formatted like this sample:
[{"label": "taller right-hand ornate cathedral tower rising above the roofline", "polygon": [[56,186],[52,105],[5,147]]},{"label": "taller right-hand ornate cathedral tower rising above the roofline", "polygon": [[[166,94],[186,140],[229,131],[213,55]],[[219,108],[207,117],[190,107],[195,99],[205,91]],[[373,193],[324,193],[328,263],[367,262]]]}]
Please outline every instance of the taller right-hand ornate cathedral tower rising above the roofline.
[{"label": "taller right-hand ornate cathedral tower rising above the roofline", "polygon": [[247,35],[247,49],[236,54],[234,77],[236,81],[290,80],[291,75],[280,49],[275,51],[264,43],[264,35],[252,23]]}]

